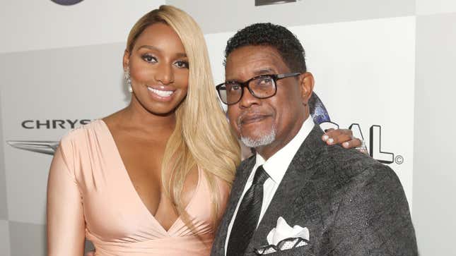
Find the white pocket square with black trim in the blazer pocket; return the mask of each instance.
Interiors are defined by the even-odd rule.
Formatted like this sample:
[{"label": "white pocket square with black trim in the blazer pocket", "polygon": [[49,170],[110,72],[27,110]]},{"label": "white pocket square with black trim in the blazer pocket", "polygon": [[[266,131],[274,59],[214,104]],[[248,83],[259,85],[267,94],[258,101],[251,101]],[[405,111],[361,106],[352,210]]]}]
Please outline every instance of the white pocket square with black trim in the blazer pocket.
[{"label": "white pocket square with black trim in the blazer pocket", "polygon": [[266,239],[269,245],[255,249],[259,255],[266,255],[276,251],[289,250],[307,245],[310,233],[308,228],[295,225],[293,228],[289,226],[285,219],[279,217],[277,226],[269,231]]}]

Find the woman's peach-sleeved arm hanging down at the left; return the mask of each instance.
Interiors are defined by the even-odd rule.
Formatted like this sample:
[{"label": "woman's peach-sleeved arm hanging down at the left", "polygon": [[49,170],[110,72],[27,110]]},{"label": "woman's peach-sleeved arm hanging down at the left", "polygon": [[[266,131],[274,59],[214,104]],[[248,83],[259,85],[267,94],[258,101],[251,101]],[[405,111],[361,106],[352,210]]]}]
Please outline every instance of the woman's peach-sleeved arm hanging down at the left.
[{"label": "woman's peach-sleeved arm hanging down at the left", "polygon": [[[74,176],[71,143],[61,142],[52,159],[47,183],[47,248],[49,256],[81,256],[85,221],[81,193]],[[70,151],[71,150],[71,151]]]}]

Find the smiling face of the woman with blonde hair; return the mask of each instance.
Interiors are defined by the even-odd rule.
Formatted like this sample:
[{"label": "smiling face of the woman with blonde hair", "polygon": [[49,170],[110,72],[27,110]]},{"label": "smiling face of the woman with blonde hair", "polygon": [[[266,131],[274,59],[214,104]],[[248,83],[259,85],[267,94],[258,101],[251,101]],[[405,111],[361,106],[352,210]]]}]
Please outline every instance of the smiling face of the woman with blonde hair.
[{"label": "smiling face of the woman with blonde hair", "polygon": [[125,51],[124,68],[129,68],[136,100],[152,114],[172,113],[187,95],[189,63],[179,36],[170,26],[148,26]]}]

